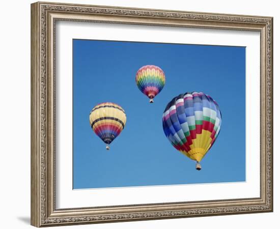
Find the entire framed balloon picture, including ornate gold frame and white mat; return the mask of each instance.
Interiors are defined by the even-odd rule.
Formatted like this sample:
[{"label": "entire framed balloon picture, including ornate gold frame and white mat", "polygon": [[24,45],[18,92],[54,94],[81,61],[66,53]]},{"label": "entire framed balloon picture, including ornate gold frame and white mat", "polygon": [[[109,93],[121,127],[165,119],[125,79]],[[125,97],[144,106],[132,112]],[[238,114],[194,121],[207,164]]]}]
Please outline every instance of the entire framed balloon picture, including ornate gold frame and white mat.
[{"label": "entire framed balloon picture, including ornate gold frame and white mat", "polygon": [[31,224],[273,211],[273,18],[31,5]]}]

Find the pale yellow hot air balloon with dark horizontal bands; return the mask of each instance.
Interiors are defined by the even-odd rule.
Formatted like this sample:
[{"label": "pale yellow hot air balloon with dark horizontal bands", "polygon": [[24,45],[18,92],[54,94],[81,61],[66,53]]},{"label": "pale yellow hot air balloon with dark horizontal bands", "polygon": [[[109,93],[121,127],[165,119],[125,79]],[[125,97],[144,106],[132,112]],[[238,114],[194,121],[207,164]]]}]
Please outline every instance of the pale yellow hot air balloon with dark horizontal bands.
[{"label": "pale yellow hot air balloon with dark horizontal bands", "polygon": [[106,144],[109,144],[122,132],[126,123],[124,109],[116,103],[100,103],[90,112],[90,125],[93,131]]}]

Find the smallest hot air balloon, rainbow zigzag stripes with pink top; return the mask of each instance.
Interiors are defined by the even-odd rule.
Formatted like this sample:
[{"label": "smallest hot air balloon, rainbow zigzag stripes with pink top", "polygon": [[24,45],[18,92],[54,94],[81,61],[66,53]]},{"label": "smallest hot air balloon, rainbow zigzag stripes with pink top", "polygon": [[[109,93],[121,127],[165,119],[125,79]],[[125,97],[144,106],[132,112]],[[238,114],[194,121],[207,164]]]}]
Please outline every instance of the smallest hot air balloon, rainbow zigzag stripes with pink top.
[{"label": "smallest hot air balloon, rainbow zigzag stripes with pink top", "polygon": [[138,89],[154,102],[154,97],[160,93],[165,84],[165,75],[161,68],[154,65],[146,65],[136,73],[136,84]]}]

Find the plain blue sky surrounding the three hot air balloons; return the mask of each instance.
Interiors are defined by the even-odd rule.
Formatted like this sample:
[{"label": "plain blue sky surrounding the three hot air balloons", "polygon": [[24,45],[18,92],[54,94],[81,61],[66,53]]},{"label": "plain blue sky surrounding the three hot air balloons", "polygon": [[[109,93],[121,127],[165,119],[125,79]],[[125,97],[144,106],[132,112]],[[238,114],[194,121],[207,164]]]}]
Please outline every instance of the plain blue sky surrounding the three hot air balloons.
[{"label": "plain blue sky surrounding the three hot air balloons", "polygon": [[[154,103],[136,71],[159,66],[166,83]],[[201,161],[178,152],[162,130],[166,104],[185,92],[219,104],[220,134]],[[105,149],[89,123],[91,109],[114,102],[126,111],[122,133]],[[73,40],[73,188],[245,181],[245,47]]]}]

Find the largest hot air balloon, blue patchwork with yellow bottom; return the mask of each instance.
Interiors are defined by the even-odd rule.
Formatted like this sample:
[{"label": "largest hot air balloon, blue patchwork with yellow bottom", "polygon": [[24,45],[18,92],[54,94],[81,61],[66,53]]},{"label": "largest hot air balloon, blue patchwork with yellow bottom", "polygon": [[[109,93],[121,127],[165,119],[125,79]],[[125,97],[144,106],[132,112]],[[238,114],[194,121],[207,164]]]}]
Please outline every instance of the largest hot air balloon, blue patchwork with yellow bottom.
[{"label": "largest hot air balloon, blue patchwork with yellow bottom", "polygon": [[200,161],[213,146],[221,127],[218,104],[200,92],[185,93],[171,100],[162,118],[163,131],[171,144],[181,153]]}]

